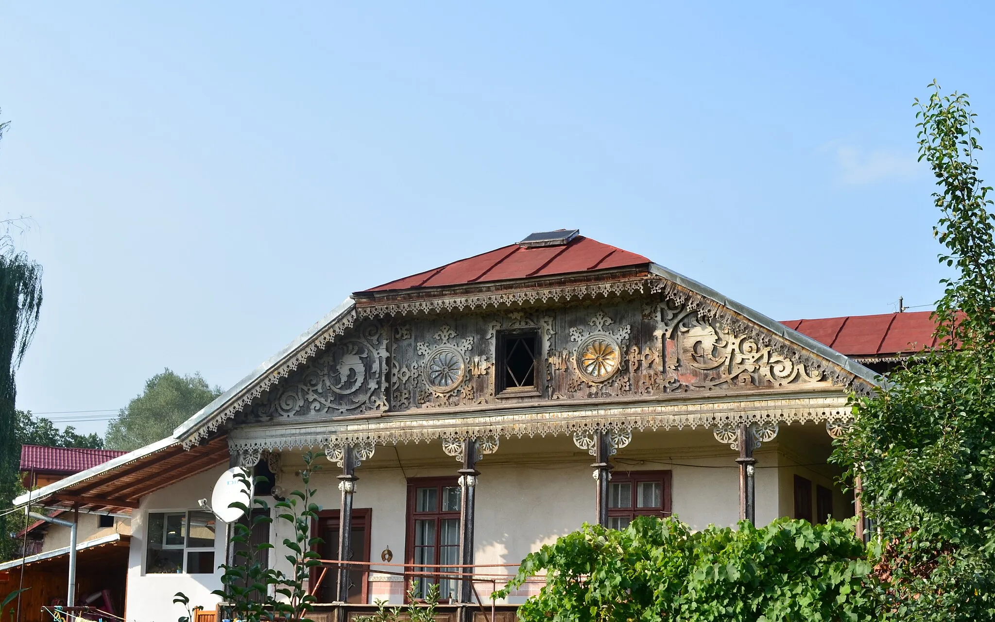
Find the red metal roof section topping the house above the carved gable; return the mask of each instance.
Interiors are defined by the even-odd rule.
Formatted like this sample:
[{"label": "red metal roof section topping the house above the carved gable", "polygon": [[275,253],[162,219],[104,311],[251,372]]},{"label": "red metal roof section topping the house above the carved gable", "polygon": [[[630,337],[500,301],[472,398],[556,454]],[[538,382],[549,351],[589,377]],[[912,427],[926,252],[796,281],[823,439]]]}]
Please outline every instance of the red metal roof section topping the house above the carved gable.
[{"label": "red metal roof section topping the house above the carved gable", "polygon": [[475,255],[434,270],[370,288],[366,292],[488,283],[650,263],[650,260],[642,255],[623,251],[591,238],[577,236],[560,246],[524,247],[518,244],[503,246],[490,253]]}]

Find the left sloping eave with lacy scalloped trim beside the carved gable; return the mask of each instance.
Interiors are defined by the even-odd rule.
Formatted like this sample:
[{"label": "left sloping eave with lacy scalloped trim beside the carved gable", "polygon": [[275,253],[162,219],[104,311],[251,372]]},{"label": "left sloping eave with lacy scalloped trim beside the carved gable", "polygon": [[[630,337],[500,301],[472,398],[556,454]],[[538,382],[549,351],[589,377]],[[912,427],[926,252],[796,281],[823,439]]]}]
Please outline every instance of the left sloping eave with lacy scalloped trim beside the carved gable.
[{"label": "left sloping eave with lacy scalloped trim beside the carved gable", "polygon": [[275,356],[256,368],[252,374],[223,393],[200,412],[173,431],[173,436],[190,449],[218,431],[218,428],[235,417],[253,400],[268,391],[281,378],[286,378],[298,366],[313,358],[319,351],[334,342],[356,321],[355,304],[345,301],[325,315]]}]

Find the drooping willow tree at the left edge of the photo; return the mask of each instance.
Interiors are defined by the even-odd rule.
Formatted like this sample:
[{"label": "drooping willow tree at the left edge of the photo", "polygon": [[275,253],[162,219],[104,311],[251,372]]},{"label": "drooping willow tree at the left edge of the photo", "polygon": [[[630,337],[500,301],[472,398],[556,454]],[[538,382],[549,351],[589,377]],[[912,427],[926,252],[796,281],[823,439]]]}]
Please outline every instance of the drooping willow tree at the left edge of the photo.
[{"label": "drooping willow tree at the left edge of the photo", "polygon": [[[8,122],[0,123],[0,137]],[[4,223],[9,230],[11,222]],[[42,308],[42,267],[0,235],[0,513],[10,507],[17,491],[20,447],[16,446],[17,386],[14,376],[38,326]],[[0,554],[13,547],[7,537],[7,517],[0,516]]]}]

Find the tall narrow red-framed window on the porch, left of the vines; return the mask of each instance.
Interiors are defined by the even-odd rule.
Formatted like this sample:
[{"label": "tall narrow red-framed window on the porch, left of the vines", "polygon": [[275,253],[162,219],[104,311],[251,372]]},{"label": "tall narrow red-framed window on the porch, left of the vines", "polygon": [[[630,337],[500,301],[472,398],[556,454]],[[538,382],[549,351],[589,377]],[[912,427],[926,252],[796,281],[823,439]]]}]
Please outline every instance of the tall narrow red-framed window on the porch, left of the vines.
[{"label": "tall narrow red-framed window on the porch, left of the vines", "polygon": [[[407,558],[415,572],[456,574],[459,568],[434,564],[459,564],[460,559],[460,497],[456,478],[423,478],[408,480],[408,542]],[[425,598],[429,586],[439,585],[443,602],[457,597],[459,582],[437,576],[415,576],[415,592]]]}]

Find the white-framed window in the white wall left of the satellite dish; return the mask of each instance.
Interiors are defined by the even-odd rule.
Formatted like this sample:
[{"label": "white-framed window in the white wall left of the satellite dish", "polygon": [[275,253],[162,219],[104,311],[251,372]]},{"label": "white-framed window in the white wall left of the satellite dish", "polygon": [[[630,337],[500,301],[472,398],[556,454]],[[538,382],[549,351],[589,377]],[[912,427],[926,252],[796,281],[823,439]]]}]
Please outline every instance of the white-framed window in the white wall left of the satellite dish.
[{"label": "white-framed window in the white wall left of the satellite dish", "polygon": [[213,574],[216,518],[210,512],[148,515],[146,574]]}]

